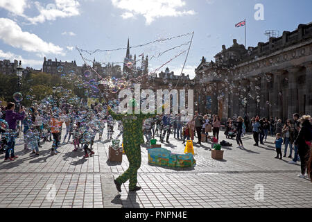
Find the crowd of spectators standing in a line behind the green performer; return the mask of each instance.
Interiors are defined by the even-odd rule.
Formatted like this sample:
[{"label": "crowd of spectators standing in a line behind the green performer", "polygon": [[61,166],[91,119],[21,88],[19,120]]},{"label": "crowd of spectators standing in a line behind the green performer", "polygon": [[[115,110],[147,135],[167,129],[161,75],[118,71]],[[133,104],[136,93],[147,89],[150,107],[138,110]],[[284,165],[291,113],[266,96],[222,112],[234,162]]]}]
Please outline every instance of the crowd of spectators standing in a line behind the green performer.
[{"label": "crowd of spectators standing in a line behind the green performer", "polygon": [[[58,148],[62,144],[73,144],[73,151],[79,151],[80,147],[85,151],[84,157],[94,155],[92,146],[94,138],[102,140],[105,126],[107,126],[107,140],[119,139],[123,135],[123,123],[115,121],[108,112],[105,105],[98,103],[89,108],[87,105],[80,105],[78,108],[58,108],[57,106],[46,105],[44,107],[35,105],[31,108],[19,106],[15,110],[15,103],[8,103],[6,108],[1,107],[1,142],[0,152],[6,153],[5,161],[14,161],[18,158],[15,155],[15,138],[24,135],[24,149],[31,151],[31,155],[40,155],[40,147],[45,142],[52,142],[51,154],[57,155]],[[113,138],[114,126],[119,134]],[[66,127],[66,133],[62,141],[62,127]],[[220,128],[225,128],[226,138],[234,138],[239,148],[244,148],[243,137],[251,128],[254,138],[254,146],[266,142],[268,135],[276,137],[275,146],[277,157],[282,159],[281,148],[284,145],[283,157],[291,158],[290,164],[296,164],[300,160],[304,177],[306,167],[311,164],[309,158],[311,146],[311,117],[293,114],[293,119],[288,119],[284,124],[280,119],[268,119],[254,117],[250,121],[245,117],[229,118],[226,123],[221,123],[218,115],[198,114],[196,111],[193,119],[182,121],[181,114],[158,114],[153,118],[145,119],[142,130],[146,138],[146,144],[150,139],[158,136],[161,142],[170,143],[170,137],[180,139],[182,144],[186,140],[198,138],[196,144],[201,145],[207,139],[219,140]],[[106,130],[105,130],[106,131]],[[211,135],[209,135],[211,133]],[[205,136],[202,139],[202,136]],[[66,141],[67,140],[67,141]],[[61,143],[62,141],[62,143]],[[288,153],[289,147],[289,153]],[[294,152],[293,152],[294,151]],[[294,153],[294,155],[293,155]],[[288,154],[288,156],[287,156]],[[311,156],[311,155],[310,155]]]}]

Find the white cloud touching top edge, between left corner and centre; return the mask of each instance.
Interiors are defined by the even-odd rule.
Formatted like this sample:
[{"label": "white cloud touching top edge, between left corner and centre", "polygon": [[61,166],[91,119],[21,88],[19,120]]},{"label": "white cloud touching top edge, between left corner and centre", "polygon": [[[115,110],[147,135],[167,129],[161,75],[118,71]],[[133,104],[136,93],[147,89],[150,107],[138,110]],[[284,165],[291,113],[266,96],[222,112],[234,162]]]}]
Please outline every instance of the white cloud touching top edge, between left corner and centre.
[{"label": "white cloud touching top edge, between left corner and centre", "polygon": [[80,15],[80,3],[76,0],[55,0],[55,4],[49,3],[45,7],[35,1],[35,6],[40,12],[36,17],[28,18],[32,24],[44,23],[46,20],[55,21],[57,17],[65,18]]}]

